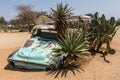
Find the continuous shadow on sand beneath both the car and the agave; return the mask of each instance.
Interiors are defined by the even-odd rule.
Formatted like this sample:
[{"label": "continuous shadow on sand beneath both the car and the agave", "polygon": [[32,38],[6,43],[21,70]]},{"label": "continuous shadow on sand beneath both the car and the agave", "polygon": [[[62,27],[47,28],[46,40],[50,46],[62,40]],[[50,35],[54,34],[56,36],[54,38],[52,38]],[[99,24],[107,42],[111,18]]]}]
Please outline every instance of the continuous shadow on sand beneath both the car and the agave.
[{"label": "continuous shadow on sand beneath both the car and the agave", "polygon": [[76,75],[76,73],[81,73],[84,71],[84,66],[91,61],[91,59],[85,59],[82,58],[78,60],[79,62],[71,63],[68,65],[60,66],[56,70],[31,70],[31,69],[24,69],[24,68],[12,68],[10,65],[5,66],[5,70],[12,70],[12,71],[20,71],[20,72],[47,72],[46,75],[52,75],[54,78],[57,78],[58,76],[66,77],[69,72],[72,72],[73,75]]}]

